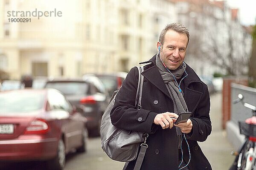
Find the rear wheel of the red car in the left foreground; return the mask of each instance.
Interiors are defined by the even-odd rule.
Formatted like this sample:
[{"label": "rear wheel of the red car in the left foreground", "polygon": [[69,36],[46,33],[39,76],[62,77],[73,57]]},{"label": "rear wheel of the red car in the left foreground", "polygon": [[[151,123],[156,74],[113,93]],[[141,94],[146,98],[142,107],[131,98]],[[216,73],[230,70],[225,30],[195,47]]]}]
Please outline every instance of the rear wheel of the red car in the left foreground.
[{"label": "rear wheel of the red car in the left foreground", "polygon": [[47,161],[47,167],[49,170],[62,170],[66,163],[66,149],[62,139],[58,142],[57,156]]}]

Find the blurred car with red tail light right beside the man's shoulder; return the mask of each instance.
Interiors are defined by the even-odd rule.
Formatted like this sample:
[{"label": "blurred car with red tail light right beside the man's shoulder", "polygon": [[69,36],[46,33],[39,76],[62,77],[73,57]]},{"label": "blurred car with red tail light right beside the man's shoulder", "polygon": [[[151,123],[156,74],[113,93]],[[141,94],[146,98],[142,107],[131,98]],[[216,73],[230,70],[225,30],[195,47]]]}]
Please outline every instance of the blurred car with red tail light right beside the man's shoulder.
[{"label": "blurred car with red tail light right beside the man's shoulder", "polygon": [[99,77],[109,95],[112,96],[114,91],[119,90],[127,74],[126,72],[117,72],[114,74],[96,74],[96,76]]}]

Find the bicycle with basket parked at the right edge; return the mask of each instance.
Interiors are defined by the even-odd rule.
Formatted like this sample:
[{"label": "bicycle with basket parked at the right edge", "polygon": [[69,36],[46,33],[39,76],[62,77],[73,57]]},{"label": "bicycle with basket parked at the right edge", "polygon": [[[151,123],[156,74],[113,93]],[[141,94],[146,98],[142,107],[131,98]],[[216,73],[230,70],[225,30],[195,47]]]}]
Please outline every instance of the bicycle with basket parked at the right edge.
[{"label": "bicycle with basket parked at the right edge", "polygon": [[256,170],[256,107],[243,101],[244,96],[238,95],[233,104],[242,102],[244,107],[250,108],[253,116],[244,122],[239,122],[240,133],[245,135],[244,143],[239,152],[233,152],[236,156],[230,170]]}]

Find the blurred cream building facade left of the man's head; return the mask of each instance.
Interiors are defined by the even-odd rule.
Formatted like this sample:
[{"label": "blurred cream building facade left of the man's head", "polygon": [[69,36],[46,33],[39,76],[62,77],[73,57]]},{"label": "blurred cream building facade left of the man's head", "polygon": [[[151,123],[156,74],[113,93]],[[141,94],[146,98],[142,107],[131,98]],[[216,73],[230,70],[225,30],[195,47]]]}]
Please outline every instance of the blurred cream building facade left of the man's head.
[{"label": "blurred cream building facade left of the man's head", "polygon": [[[176,20],[173,9],[168,0],[0,0],[0,69],[10,79],[129,71],[157,51],[160,30]],[[38,19],[34,11],[61,16]]]}]

